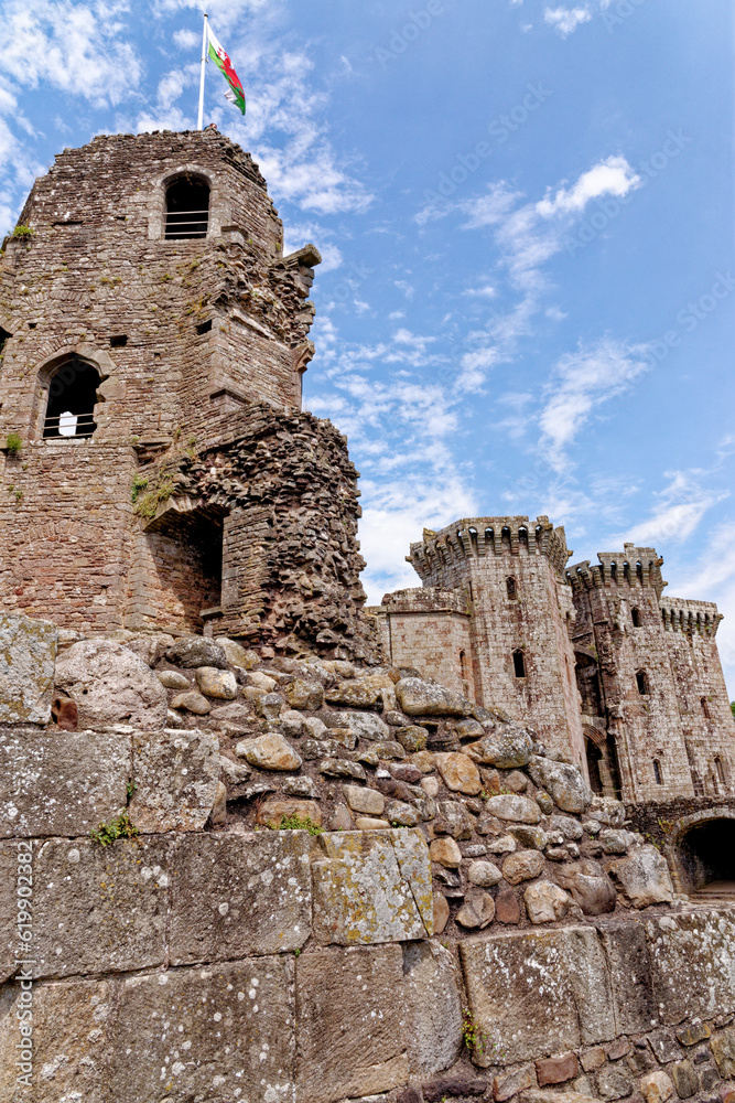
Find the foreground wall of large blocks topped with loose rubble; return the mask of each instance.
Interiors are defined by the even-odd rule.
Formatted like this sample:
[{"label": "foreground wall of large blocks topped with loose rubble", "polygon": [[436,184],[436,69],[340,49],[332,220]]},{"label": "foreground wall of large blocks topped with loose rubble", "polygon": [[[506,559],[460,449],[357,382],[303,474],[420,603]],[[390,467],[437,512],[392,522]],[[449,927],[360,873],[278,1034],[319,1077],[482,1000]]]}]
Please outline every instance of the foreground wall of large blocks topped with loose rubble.
[{"label": "foreground wall of large blocks topped with loose rubble", "polygon": [[675,896],[644,821],[518,725],[131,632],[67,640],[28,724],[41,629],[6,629],[3,1101],[726,1100],[732,909]]}]

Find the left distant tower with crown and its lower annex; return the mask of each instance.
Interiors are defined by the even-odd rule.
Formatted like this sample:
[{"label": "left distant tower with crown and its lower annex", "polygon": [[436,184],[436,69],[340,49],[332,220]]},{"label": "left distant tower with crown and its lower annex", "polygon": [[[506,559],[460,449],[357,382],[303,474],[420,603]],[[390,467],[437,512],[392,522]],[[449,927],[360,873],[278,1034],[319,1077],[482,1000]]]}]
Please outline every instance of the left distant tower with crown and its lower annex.
[{"label": "left distant tower with crown and its lower annex", "polygon": [[426,664],[584,769],[570,555],[564,529],[548,517],[475,517],[424,531],[407,557],[423,589],[387,595],[380,612],[393,662]]}]

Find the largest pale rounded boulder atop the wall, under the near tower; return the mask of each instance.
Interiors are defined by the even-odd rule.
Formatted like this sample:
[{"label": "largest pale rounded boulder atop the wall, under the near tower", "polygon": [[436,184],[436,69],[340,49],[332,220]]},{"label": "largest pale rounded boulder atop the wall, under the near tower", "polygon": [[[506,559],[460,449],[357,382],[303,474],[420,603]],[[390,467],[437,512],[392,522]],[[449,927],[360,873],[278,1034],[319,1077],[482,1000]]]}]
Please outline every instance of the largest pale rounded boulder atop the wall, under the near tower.
[{"label": "largest pale rounded boulder atop the wall, under the near tower", "polygon": [[165,689],[142,658],[111,640],[73,644],[56,663],[55,686],[76,702],[79,728],[165,727]]}]

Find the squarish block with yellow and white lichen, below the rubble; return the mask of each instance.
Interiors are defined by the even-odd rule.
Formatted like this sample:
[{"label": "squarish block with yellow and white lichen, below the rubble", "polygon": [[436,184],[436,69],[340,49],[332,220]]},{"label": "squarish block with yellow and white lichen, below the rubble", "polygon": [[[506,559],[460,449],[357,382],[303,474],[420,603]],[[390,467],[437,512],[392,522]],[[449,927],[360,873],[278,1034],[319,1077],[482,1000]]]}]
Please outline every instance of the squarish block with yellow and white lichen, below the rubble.
[{"label": "squarish block with yellow and white lichen, below the rubble", "polygon": [[431,934],[429,852],[418,829],[322,835],[315,858],[314,935],[350,945]]}]

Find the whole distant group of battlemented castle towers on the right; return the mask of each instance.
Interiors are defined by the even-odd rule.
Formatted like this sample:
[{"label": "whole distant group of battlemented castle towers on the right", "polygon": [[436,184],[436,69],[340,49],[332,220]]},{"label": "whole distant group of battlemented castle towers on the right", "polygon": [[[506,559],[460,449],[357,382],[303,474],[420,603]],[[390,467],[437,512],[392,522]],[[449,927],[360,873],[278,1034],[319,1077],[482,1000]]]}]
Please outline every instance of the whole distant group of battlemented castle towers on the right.
[{"label": "whole distant group of battlemented castle towers on the right", "polygon": [[505,708],[595,792],[667,801],[733,792],[735,725],[709,601],[663,597],[662,559],[626,544],[568,566],[548,517],[424,531],[421,589],[370,611],[392,662]]}]

